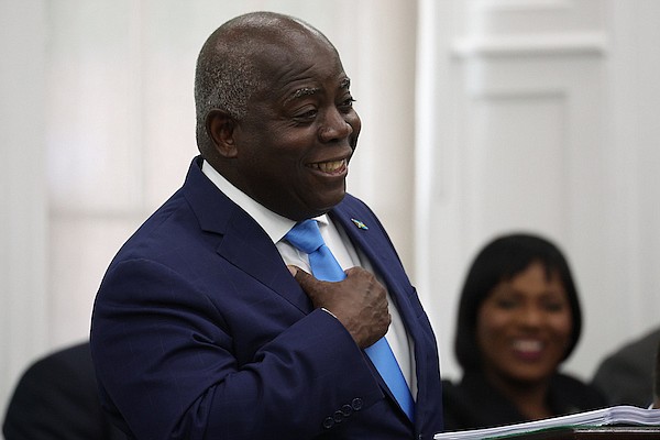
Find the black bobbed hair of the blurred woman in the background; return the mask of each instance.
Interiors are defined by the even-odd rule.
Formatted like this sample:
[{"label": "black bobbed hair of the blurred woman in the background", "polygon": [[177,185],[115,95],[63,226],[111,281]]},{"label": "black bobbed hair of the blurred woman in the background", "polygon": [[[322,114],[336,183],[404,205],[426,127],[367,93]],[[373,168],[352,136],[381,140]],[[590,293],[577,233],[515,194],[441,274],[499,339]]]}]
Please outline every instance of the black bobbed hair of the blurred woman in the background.
[{"label": "black bobbed hair of the blurred woman in the background", "polygon": [[476,343],[476,317],[481,305],[497,284],[512,279],[532,262],[540,262],[548,277],[558,274],[569,297],[573,331],[562,360],[565,360],[578,344],[582,330],[582,312],[569,263],[561,251],[538,235],[503,235],[490,242],[476,255],[461,292],[454,352],[463,372],[481,367],[481,353]]}]

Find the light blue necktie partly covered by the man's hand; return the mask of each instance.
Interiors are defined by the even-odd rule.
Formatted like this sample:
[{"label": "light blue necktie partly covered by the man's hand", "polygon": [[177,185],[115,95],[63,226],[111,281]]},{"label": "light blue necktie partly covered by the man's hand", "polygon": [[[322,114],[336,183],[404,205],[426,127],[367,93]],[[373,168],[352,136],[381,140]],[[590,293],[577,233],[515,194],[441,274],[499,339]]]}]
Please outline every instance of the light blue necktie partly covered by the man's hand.
[{"label": "light blue necktie partly covered by the man's hand", "polygon": [[[285,239],[298,250],[309,255],[311,273],[318,279],[340,282],[346,277],[337,260],[334,260],[334,255],[332,255],[332,252],[326,245],[316,220],[305,220],[296,223],[287,232]],[[364,351],[394,397],[398,400],[402,409],[413,420],[415,417],[413,395],[387,340],[381,338],[375,344],[367,346]]]}]

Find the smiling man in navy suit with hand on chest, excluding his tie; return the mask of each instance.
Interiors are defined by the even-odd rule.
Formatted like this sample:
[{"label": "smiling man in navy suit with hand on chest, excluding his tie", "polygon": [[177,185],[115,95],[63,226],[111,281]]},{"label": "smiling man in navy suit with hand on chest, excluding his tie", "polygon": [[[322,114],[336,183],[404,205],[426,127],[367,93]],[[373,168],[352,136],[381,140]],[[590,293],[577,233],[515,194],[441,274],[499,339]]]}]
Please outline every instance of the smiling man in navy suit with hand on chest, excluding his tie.
[{"label": "smiling man in navy suit with hand on chest, excluding his tie", "polygon": [[[336,48],[282,14],[209,36],[200,156],[114,257],[95,302],[101,397],[134,439],[431,439],[436,339],[374,213],[345,193],[360,118]],[[316,219],[346,278],[285,234]],[[364,349],[386,336],[410,419]]]}]

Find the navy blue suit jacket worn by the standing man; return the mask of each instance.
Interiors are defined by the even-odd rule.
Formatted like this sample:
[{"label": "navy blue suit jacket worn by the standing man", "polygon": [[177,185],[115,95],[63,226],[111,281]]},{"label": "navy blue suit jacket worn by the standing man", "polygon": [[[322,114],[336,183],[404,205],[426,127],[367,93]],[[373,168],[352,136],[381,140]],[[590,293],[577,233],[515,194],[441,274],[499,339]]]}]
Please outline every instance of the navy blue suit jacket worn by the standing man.
[{"label": "navy blue suit jacket worn by the standing man", "polygon": [[138,439],[431,439],[442,429],[436,339],[374,213],[346,195],[330,216],[413,337],[415,424],[200,163],[120,250],[96,298],[92,358],[116,422]]}]

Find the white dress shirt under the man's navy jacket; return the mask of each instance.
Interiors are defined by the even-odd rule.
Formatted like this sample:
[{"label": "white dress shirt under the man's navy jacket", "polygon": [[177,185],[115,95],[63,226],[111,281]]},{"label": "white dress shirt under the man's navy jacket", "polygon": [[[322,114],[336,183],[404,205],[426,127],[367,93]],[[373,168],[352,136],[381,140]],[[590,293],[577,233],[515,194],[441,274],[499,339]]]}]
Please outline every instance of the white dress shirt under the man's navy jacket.
[{"label": "white dress shirt under the man's navy jacket", "polygon": [[[252,217],[271,238],[277,246],[282,258],[287,265],[296,265],[308,273],[311,273],[309,267],[309,258],[305,252],[283,240],[284,235],[296,224],[295,221],[282,217],[256,200],[250,198],[246,194],[233,186],[220,173],[218,173],[206,161],[201,166],[202,173],[234,204],[241,207],[250,217]],[[330,249],[339,265],[345,271],[346,268],[361,266],[364,270],[374,273],[370,261],[362,252],[358,252],[351,240],[348,238],[343,229],[334,224],[327,215],[317,217],[321,237],[326,245]],[[376,277],[384,285],[382,279],[376,274]],[[396,309],[389,293],[387,293],[387,304],[392,323],[386,333],[387,342],[394,352],[394,355],[404,373],[404,377],[410,387],[413,397],[417,397],[417,376],[415,374],[415,355],[413,340],[406,332],[406,328],[402,317]]]}]

